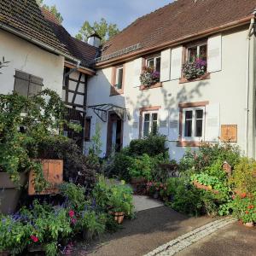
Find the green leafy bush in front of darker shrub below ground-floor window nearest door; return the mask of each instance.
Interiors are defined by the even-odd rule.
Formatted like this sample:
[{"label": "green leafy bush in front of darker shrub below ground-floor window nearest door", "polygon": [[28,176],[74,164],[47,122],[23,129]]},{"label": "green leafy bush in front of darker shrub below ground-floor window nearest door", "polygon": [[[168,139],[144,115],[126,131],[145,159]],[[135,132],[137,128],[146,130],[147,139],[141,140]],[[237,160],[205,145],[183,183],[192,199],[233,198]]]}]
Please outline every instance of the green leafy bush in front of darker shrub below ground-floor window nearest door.
[{"label": "green leafy bush in front of darker shrub below ground-floor window nearest door", "polygon": [[148,154],[134,158],[128,172],[131,177],[144,177],[146,180],[152,179],[153,162]]}]

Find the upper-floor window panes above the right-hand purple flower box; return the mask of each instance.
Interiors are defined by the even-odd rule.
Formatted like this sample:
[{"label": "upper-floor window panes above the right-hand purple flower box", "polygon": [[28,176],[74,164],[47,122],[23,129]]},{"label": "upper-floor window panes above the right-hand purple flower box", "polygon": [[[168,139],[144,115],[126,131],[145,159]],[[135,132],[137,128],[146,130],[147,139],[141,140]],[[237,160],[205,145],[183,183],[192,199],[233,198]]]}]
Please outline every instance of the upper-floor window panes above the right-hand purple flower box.
[{"label": "upper-floor window panes above the right-hand purple flower box", "polygon": [[196,59],[207,61],[207,43],[194,44],[187,49],[187,62],[195,62]]}]

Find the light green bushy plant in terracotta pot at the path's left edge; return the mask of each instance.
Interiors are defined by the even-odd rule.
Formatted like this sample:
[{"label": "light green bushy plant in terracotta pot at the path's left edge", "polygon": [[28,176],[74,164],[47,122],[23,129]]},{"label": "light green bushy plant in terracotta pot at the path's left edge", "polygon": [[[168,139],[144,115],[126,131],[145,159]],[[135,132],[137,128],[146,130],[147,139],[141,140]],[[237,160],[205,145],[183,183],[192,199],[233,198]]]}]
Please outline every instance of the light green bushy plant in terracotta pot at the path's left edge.
[{"label": "light green bushy plant in terracotta pot at the path's left edge", "polygon": [[99,177],[92,195],[96,204],[112,212],[125,212],[126,216],[133,213],[132,189],[125,183],[116,183],[113,180]]}]

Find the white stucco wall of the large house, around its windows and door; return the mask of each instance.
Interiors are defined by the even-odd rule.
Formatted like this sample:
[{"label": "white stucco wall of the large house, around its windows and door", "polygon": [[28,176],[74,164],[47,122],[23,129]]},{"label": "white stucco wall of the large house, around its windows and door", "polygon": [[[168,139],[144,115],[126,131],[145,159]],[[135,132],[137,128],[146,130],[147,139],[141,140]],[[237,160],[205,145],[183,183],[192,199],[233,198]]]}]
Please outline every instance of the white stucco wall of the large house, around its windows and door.
[{"label": "white stucco wall of the large house, around its windows and door", "polygon": [[[179,79],[170,78],[162,82],[162,87],[140,90],[140,84],[134,84],[134,63],[137,60],[128,61],[125,62],[124,94],[110,96],[112,67],[106,67],[98,70],[96,76],[89,79],[87,105],[113,103],[129,110],[130,119],[125,120],[123,127],[123,147],[129,145],[132,139],[139,137],[140,108],[160,106],[159,119],[166,123],[162,123],[162,127],[159,126],[159,131],[168,139],[167,147],[171,159],[179,160],[187,148],[177,146],[177,141],[182,136],[178,126],[179,103],[208,102],[202,140],[218,142],[221,125],[237,125],[237,144],[244,151],[247,113],[247,29],[248,27],[243,27],[222,32],[220,68],[210,73],[209,79],[182,84]],[[251,39],[250,46],[248,155],[255,157],[254,38]],[[211,113],[212,111],[214,113]],[[104,156],[107,148],[108,122],[102,122],[90,108],[87,115],[92,117],[91,136],[95,131],[96,123],[102,127],[102,156]],[[212,119],[209,116],[212,116]],[[214,124],[211,124],[212,122]],[[173,127],[173,124],[177,126]],[[90,143],[87,143],[86,149],[89,147]]]}]

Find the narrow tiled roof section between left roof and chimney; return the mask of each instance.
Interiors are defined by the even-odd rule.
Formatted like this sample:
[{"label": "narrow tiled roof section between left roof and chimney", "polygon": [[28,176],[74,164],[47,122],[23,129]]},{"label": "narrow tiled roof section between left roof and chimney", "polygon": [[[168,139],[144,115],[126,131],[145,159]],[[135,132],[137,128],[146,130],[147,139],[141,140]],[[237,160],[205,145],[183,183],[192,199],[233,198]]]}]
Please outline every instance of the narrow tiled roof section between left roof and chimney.
[{"label": "narrow tiled roof section between left roof and chimney", "polygon": [[98,49],[95,46],[91,46],[90,44],[80,41],[77,38],[73,38],[67,30],[61,26],[59,21],[49,13],[48,10],[42,9],[42,13],[44,14],[45,20],[48,20],[49,26],[51,26],[56,38],[65,45],[74,57],[82,61],[82,66],[91,67],[90,63],[96,57]]}]

